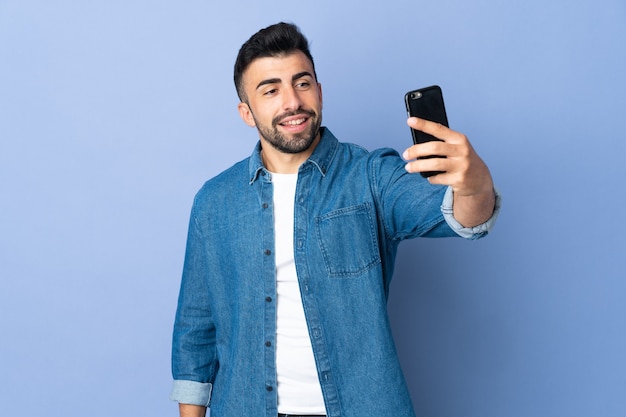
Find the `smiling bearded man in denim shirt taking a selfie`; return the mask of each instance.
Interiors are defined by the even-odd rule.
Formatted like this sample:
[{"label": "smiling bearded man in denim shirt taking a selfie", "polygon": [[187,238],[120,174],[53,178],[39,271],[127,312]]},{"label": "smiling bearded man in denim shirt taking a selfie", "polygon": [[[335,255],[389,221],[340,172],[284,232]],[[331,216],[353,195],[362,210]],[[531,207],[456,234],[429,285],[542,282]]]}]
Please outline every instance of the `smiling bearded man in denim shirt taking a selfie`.
[{"label": "smiling bearded man in denim shirt taking a selfie", "polygon": [[194,200],[173,340],[180,415],[413,416],[386,312],[396,249],[484,236],[499,206],[487,166],[464,135],[415,118],[443,142],[404,160],[338,142],[293,25],[252,36],[234,78],[260,141]]}]

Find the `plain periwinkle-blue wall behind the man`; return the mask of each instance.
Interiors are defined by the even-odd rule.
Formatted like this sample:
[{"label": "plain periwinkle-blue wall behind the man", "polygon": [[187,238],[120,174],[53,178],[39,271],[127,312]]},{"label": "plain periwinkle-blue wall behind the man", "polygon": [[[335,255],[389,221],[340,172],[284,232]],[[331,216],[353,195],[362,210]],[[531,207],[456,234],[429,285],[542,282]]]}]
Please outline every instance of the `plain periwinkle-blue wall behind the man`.
[{"label": "plain periwinkle-blue wall behind the man", "polygon": [[623,0],[0,0],[0,415],[175,415],[191,201],[256,142],[232,65],[279,20],[341,140],[405,149],[439,84],[504,194],[487,239],[401,246],[418,414],[626,415]]}]

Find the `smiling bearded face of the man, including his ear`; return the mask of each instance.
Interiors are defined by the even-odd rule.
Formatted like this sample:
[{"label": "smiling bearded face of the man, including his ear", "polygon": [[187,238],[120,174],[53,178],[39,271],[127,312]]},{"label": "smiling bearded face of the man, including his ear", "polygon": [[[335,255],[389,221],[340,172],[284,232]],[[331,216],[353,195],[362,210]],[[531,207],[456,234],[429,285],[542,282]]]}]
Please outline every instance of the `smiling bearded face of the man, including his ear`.
[{"label": "smiling bearded face of the man, including his ear", "polygon": [[322,88],[302,52],[255,59],[243,74],[243,88],[247,102],[239,104],[239,113],[256,126],[262,143],[295,154],[317,141]]}]

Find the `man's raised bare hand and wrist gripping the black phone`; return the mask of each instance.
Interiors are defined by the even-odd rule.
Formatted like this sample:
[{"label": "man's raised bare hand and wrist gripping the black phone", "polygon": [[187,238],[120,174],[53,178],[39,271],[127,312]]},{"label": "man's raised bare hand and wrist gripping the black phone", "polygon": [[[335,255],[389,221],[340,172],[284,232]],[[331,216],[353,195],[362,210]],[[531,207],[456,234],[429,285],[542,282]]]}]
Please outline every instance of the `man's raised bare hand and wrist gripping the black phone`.
[{"label": "man's raised bare hand and wrist gripping the black phone", "polygon": [[442,142],[427,142],[408,148],[403,157],[412,160],[428,155],[445,158],[417,159],[407,163],[408,172],[444,171],[429,177],[432,184],[452,188],[454,218],[465,227],[474,227],[487,221],[494,212],[495,193],[489,168],[472,148],[465,135],[438,123],[410,117],[413,129],[429,133]]}]

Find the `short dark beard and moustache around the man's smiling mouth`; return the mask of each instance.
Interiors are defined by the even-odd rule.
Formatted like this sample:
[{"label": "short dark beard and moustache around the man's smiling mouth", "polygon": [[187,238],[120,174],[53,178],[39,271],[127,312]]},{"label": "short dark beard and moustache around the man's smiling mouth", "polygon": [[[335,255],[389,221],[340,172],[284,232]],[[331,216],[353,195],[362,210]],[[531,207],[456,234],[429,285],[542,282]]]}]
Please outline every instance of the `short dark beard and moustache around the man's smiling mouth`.
[{"label": "short dark beard and moustache around the man's smiling mouth", "polygon": [[[280,121],[285,117],[295,116],[299,114],[306,115],[309,120],[309,128],[304,132],[291,135],[291,137],[287,137],[278,131],[277,126]],[[254,115],[253,115],[254,117]],[[257,126],[257,130],[263,139],[265,139],[272,147],[277,149],[283,153],[300,153],[304,152],[311,147],[313,141],[317,137],[320,131],[320,125],[322,123],[321,118],[312,111],[312,110],[298,110],[295,112],[288,112],[285,114],[281,114],[280,116],[275,117],[272,120],[271,126],[265,126],[260,124],[256,118],[255,123]]]}]

